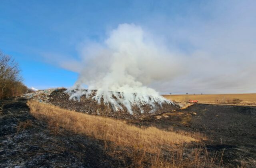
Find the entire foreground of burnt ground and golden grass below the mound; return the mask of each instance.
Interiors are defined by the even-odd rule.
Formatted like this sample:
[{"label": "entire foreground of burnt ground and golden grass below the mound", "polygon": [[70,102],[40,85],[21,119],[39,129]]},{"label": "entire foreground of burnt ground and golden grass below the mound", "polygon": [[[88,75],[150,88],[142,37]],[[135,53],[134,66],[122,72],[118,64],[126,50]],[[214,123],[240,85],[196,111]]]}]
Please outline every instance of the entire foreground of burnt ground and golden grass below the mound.
[{"label": "entire foreground of burnt ground and golden grass below the mound", "polygon": [[253,106],[192,104],[116,119],[4,100],[0,167],[255,167],[255,123]]}]

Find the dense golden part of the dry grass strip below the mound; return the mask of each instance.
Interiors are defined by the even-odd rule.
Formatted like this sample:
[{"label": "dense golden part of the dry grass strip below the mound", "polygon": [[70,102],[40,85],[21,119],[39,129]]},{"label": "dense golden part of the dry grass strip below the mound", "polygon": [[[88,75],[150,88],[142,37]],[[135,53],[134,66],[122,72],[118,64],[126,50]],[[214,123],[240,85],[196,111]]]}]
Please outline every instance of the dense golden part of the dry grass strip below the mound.
[{"label": "dense golden part of the dry grass strip below the mound", "polygon": [[115,142],[121,146],[146,148],[151,153],[158,152],[159,146],[198,141],[175,132],[167,132],[155,127],[142,129],[120,120],[64,110],[50,104],[30,101],[28,106],[36,118],[46,118],[49,123],[54,123],[56,126],[99,140]]}]

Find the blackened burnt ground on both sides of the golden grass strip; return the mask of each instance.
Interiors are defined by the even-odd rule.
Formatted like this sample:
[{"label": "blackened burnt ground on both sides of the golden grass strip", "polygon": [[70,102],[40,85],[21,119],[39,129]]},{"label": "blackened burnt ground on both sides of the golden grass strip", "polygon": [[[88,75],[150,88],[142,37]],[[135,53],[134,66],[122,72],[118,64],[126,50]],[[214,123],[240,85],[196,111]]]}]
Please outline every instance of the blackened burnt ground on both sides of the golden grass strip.
[{"label": "blackened burnt ground on both sides of the golden grass strip", "polygon": [[[56,131],[36,120],[26,101],[0,101],[0,167],[126,167],[133,163],[127,148],[116,147],[113,152],[100,140]],[[146,119],[124,120],[200,132],[207,137],[203,142],[208,152],[224,151],[224,166],[256,167],[256,107],[195,104]]]}]

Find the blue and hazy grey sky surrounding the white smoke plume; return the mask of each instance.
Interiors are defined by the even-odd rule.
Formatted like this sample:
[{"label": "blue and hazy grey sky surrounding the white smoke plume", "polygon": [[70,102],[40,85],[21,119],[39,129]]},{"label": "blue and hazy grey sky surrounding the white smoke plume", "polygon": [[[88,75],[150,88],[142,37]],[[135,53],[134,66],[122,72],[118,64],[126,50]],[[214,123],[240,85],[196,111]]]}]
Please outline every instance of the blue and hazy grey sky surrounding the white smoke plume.
[{"label": "blue and hazy grey sky surrounding the white smoke plume", "polygon": [[88,64],[86,48],[135,25],[172,58],[164,78],[145,85],[172,94],[256,93],[255,8],[254,0],[1,0],[0,50],[19,63],[26,86],[70,87]]}]

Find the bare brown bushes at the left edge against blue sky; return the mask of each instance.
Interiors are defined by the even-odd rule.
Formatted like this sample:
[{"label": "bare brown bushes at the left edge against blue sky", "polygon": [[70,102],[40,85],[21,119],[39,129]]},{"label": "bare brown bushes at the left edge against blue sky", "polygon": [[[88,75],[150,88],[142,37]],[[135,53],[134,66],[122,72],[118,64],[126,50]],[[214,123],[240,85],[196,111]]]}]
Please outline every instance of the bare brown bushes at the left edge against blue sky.
[{"label": "bare brown bushes at the left edge against blue sky", "polygon": [[20,72],[18,63],[11,56],[0,52],[0,100],[28,92],[28,88],[22,83]]}]

